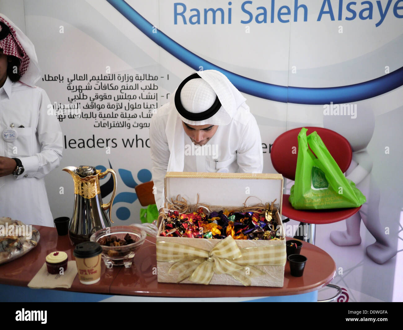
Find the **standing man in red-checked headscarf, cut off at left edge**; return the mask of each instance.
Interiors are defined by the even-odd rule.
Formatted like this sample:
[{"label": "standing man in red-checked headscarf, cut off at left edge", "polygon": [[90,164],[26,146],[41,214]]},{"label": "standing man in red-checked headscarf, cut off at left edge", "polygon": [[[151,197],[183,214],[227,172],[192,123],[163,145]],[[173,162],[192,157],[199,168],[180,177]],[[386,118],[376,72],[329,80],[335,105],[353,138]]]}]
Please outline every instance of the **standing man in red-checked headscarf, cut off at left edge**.
[{"label": "standing man in red-checked headscarf, cut off at left edge", "polygon": [[53,227],[44,176],[60,163],[62,131],[34,86],[41,75],[33,44],[2,14],[0,25],[0,217]]}]

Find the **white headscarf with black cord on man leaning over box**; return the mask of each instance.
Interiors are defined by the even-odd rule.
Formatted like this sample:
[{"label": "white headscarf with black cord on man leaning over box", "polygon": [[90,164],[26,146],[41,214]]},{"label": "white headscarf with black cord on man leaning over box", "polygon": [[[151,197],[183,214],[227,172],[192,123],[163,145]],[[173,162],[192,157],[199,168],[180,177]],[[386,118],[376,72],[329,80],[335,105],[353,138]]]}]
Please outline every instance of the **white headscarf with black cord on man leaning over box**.
[{"label": "white headscarf with black cord on man leaning over box", "polygon": [[237,110],[249,110],[246,99],[219,71],[205,70],[187,77],[171,95],[165,133],[170,158],[167,171],[182,172],[185,161],[185,131],[188,125],[229,125]]}]

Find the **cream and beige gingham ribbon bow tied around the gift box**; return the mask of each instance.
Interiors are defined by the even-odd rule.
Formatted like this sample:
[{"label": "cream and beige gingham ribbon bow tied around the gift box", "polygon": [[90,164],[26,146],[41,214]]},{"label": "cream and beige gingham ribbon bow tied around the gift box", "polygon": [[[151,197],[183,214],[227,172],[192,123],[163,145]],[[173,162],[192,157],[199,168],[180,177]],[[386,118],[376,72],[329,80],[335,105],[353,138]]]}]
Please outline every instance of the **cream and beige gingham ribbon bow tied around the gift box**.
[{"label": "cream and beige gingham ribbon bow tied around the gift box", "polygon": [[259,265],[285,265],[284,245],[265,245],[239,249],[228,236],[210,251],[188,245],[157,242],[157,261],[175,262],[168,274],[179,270],[178,283],[185,278],[199,284],[209,284],[214,273],[229,274],[243,285],[251,285],[251,277],[265,273],[253,267]]}]

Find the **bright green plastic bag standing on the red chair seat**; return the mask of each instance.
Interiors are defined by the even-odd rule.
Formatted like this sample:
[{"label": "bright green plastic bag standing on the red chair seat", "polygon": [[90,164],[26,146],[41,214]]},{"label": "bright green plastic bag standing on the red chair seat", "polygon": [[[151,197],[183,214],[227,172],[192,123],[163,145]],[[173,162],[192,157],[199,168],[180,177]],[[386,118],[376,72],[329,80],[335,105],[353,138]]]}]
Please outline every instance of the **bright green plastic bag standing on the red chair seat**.
[{"label": "bright green plastic bag standing on the red chair seat", "polygon": [[[297,210],[358,207],[365,196],[347,179],[330,155],[318,133],[298,134],[298,158],[295,184],[289,201]],[[308,144],[312,151],[309,150]]]}]

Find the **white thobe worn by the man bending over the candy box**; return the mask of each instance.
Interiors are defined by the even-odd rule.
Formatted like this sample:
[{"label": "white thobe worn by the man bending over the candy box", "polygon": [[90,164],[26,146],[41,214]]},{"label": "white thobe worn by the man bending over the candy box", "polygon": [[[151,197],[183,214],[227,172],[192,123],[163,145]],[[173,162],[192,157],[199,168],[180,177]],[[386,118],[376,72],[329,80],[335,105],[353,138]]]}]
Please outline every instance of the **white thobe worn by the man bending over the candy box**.
[{"label": "white thobe worn by the man bending over the candy box", "polygon": [[[170,111],[176,109],[166,103],[152,116],[150,124],[152,178],[158,208],[164,204],[164,177],[167,171],[262,173],[262,139],[249,108],[239,107],[230,124],[218,126],[214,136],[204,146],[204,155],[202,150],[197,151],[200,146],[193,145],[180,123],[174,126],[169,122]],[[178,131],[170,134],[173,129]],[[182,142],[172,146],[173,136],[182,133]],[[173,148],[175,153],[183,154],[183,165],[179,167],[172,159]]]}]

